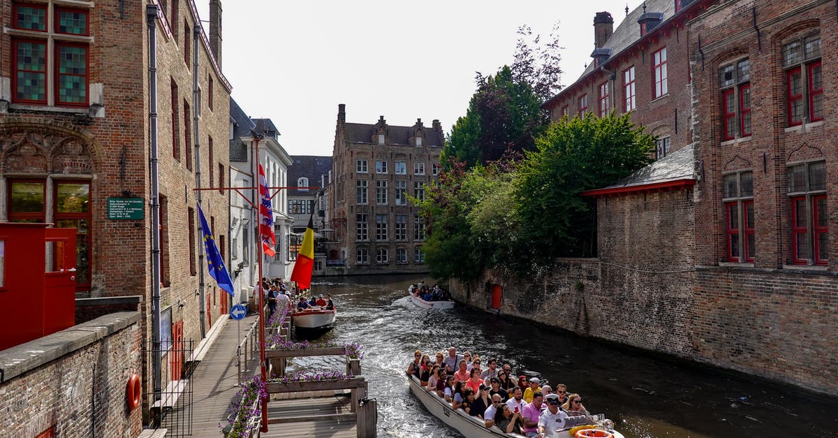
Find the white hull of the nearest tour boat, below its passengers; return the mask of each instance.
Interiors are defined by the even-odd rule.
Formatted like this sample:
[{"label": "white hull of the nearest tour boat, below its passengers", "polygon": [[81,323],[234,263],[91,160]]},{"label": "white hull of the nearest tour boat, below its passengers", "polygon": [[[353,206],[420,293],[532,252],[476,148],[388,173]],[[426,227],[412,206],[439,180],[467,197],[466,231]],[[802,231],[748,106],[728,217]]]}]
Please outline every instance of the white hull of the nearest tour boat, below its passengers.
[{"label": "white hull of the nearest tour boat, below its passengers", "polygon": [[[486,429],[484,420],[466,414],[463,409],[451,409],[450,403],[440,398],[436,392],[428,392],[416,376],[408,376],[408,380],[410,381],[411,392],[425,405],[425,408],[439,420],[442,420],[443,423],[458,430],[466,438],[525,438],[524,435],[505,433],[498,426],[492,426],[491,429]],[[599,416],[602,417],[602,415]],[[594,422],[591,420],[593,420],[591,417],[587,417],[587,420],[580,424],[596,424],[597,430],[602,430],[604,436],[610,434],[613,435],[613,438],[624,438],[623,434],[620,434],[616,430],[608,430],[605,433],[605,423],[610,420],[603,419]],[[558,435],[554,436],[559,438],[574,438],[570,435],[570,430],[572,429],[573,426],[567,427],[565,430],[559,431]]]}]

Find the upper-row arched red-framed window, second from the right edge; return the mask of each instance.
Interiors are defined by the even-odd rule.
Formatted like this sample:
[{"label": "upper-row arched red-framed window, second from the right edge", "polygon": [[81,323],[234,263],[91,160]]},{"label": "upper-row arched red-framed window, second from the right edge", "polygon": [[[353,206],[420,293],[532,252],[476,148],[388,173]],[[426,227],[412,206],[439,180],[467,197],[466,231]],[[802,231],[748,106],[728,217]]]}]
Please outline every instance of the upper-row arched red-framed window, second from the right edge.
[{"label": "upper-row arched red-framed window, second from the right edge", "polygon": [[722,90],[722,137],[732,140],[751,135],[751,64],[738,60],[719,69]]}]

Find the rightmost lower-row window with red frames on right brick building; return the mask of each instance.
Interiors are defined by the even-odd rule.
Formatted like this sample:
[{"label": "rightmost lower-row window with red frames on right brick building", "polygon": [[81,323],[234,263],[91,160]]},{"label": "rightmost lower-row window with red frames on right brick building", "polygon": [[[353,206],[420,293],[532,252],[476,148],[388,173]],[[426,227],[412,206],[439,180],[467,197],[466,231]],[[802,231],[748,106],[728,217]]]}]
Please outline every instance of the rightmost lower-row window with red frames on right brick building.
[{"label": "rightmost lower-row window with red frames on right brick building", "polygon": [[789,167],[789,198],[794,263],[825,265],[830,251],[823,161]]}]

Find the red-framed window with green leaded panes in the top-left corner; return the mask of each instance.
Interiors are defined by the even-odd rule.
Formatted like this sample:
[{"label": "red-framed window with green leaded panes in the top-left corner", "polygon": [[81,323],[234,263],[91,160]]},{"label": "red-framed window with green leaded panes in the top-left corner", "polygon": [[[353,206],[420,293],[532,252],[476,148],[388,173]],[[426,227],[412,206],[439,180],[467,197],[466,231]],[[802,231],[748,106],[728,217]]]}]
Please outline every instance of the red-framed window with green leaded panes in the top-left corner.
[{"label": "red-framed window with green leaded panes in the top-left corner", "polygon": [[[48,17],[50,9],[54,19]],[[13,35],[13,102],[62,107],[89,104],[88,18],[85,9],[13,4],[13,29],[7,30]]]}]

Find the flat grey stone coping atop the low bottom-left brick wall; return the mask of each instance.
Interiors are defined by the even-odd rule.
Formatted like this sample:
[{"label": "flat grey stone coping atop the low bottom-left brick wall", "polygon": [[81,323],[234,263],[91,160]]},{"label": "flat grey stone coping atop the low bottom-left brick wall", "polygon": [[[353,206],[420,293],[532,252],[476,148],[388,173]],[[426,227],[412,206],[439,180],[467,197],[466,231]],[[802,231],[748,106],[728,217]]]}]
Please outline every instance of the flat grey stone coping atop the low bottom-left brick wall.
[{"label": "flat grey stone coping atop the low bottom-left brick wall", "polygon": [[87,347],[140,321],[140,312],[116,312],[0,351],[0,382]]}]

